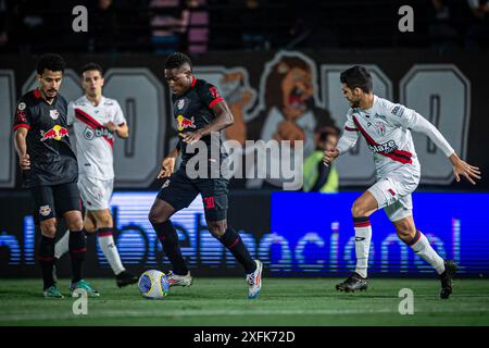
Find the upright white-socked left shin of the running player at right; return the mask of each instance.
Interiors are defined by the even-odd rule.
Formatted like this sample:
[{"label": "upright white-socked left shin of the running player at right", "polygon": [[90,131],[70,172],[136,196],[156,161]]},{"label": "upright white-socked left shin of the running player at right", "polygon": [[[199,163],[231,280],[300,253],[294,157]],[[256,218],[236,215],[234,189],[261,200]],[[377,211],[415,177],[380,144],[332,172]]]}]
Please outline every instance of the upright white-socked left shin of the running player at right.
[{"label": "upright white-socked left shin of the running player at right", "polygon": [[353,225],[355,229],[355,273],[366,278],[372,240],[371,221],[368,216],[353,217]]}]

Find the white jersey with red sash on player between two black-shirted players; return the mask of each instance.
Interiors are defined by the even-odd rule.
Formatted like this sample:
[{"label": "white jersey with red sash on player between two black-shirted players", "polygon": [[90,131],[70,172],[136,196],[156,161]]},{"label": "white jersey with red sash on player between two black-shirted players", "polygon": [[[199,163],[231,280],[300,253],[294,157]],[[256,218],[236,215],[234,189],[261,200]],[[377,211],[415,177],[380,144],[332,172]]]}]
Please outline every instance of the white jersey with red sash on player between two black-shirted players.
[{"label": "white jersey with red sash on player between two black-shirted players", "polygon": [[79,174],[101,181],[114,178],[114,133],[103,124],[126,123],[118,102],[102,97],[96,107],[83,96],[68,104],[67,120],[75,133]]}]

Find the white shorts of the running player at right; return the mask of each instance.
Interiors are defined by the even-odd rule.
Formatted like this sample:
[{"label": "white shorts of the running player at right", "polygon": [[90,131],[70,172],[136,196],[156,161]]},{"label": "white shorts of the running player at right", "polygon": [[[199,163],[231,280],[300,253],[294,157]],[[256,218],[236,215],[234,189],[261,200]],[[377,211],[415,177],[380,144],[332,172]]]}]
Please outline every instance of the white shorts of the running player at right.
[{"label": "white shorts of the running player at right", "polygon": [[419,176],[405,172],[392,172],[375,183],[368,191],[384,209],[390,221],[399,221],[413,214],[411,194],[419,184]]}]

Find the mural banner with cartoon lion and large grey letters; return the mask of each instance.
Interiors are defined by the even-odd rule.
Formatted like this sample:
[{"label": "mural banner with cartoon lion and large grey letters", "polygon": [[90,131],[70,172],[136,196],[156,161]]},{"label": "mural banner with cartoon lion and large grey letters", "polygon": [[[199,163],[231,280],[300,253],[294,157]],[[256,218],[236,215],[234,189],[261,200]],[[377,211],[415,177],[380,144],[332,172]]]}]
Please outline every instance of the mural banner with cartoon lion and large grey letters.
[{"label": "mural banner with cartoon lion and large grey letters", "polygon": [[[178,122],[172,117],[170,90],[163,80],[164,55],[65,55],[68,69],[61,92],[67,100],[83,94],[77,72],[95,61],[105,69],[103,94],[118,100],[129,127],[128,141],[116,141],[115,187],[156,189],[161,159],[178,140]],[[489,117],[484,101],[487,54],[452,54],[440,58],[431,52],[228,52],[193,58],[195,74],[214,84],[234,114],[233,126],[223,130],[233,140],[231,188],[283,189],[287,179],[279,170],[266,165],[266,177],[256,177],[255,148],[247,141],[288,140],[291,156],[298,140],[303,141],[305,159],[314,151],[318,132],[344,123],[348,103],[339,82],[341,71],[354,64],[365,65],[372,73],[375,94],[415,109],[446,136],[459,156],[482,170],[489,166],[487,128]],[[0,129],[0,187],[20,188],[21,181],[12,142],[15,100],[36,87],[33,67],[36,57],[0,58],[0,112],[4,126]],[[190,117],[191,115],[185,115]],[[380,120],[381,121],[381,120]],[[379,122],[380,122],[379,121]],[[381,132],[383,126],[373,125]],[[421,188],[468,189],[456,184],[452,169],[435,145],[414,134],[422,163]],[[302,152],[303,151],[303,152]],[[287,153],[289,153],[287,152]],[[296,153],[297,154],[297,153]],[[265,159],[266,160],[266,159]],[[362,139],[337,163],[341,188],[371,185],[375,182],[374,164]],[[475,189],[488,189],[489,179]]]}]

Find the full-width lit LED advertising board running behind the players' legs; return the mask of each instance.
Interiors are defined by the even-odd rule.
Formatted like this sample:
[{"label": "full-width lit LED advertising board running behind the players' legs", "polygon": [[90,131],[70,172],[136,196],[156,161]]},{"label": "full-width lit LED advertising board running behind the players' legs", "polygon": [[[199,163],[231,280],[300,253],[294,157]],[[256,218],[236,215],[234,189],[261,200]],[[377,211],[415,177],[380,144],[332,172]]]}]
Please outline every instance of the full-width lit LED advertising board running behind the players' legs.
[{"label": "full-width lit LED advertising board running behind the players' legs", "polygon": [[[261,215],[250,213],[250,201],[230,204],[229,212],[235,215],[233,221],[239,221],[237,214],[246,216],[247,226],[234,223],[234,227],[240,232],[250,253],[264,262],[266,275],[344,276],[355,265],[351,206],[360,195],[273,192],[262,195],[260,199],[250,198],[254,206],[263,206]],[[171,266],[148,221],[154,197],[155,192],[115,192],[111,201],[121,258],[125,265],[135,270],[159,268],[167,271]],[[26,203],[28,201],[22,204]],[[485,222],[489,194],[415,192],[413,204],[417,228],[443,259],[459,263],[459,275],[489,276],[489,226]],[[28,214],[17,217],[5,220],[13,223],[0,231],[0,276],[39,273],[35,261],[37,236],[33,217]],[[188,209],[177,212],[172,221],[192,272],[242,275],[230,252],[208,232],[200,197]],[[374,213],[371,222],[369,275],[436,275],[397,237],[383,211]],[[90,240],[87,275],[110,275],[109,263],[100,247],[95,238]],[[61,260],[62,276],[70,274],[67,259],[66,262]]]}]

